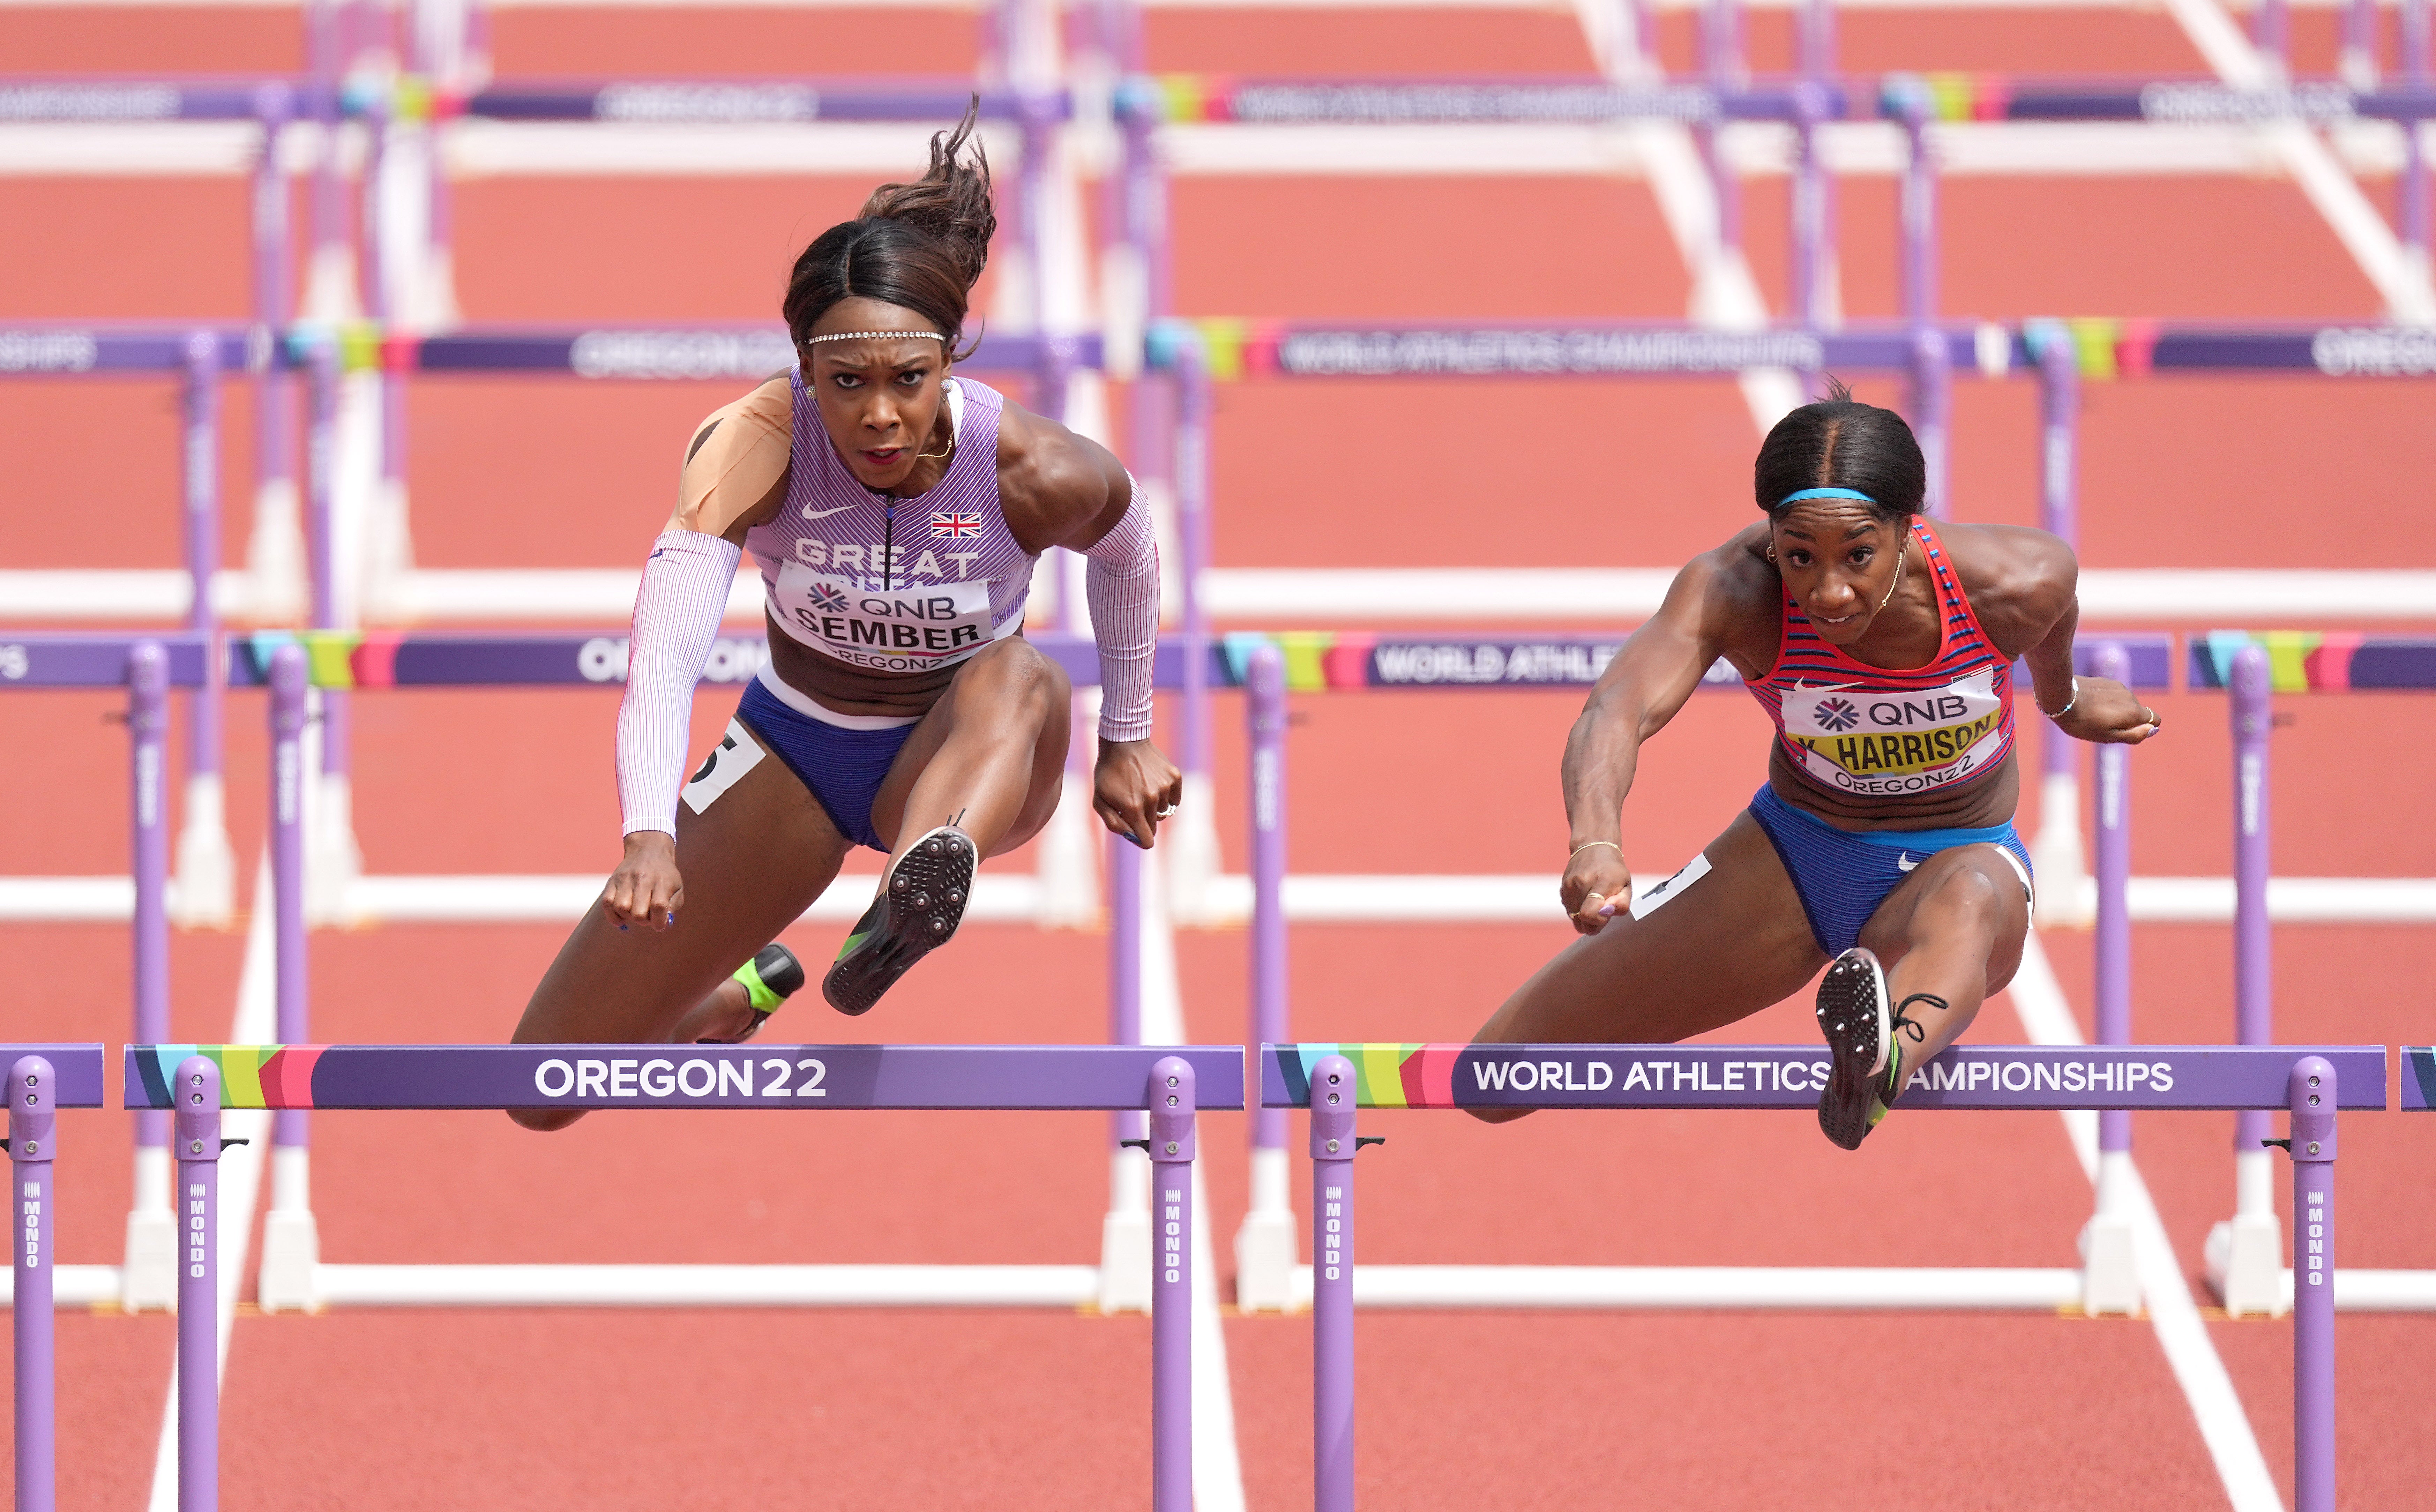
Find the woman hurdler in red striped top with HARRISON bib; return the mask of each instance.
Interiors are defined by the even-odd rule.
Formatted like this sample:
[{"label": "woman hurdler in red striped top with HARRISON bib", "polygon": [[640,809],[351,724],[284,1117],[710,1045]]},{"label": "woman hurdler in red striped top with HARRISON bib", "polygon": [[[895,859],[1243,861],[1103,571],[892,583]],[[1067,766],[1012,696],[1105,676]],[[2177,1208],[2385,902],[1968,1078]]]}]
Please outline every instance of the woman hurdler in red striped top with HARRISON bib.
[{"label": "woman hurdler in red striped top with HARRISON bib", "polygon": [[[2012,830],[2015,657],[2066,735],[2139,745],[2158,718],[2119,682],[2073,677],[2073,550],[2019,526],[1932,528],[1924,482],[1910,426],[1842,387],[1769,431],[1751,467],[1766,523],[1676,575],[1566,740],[1561,896],[1583,937],[1479,1040],[1686,1040],[1829,962],[1820,1127],[1859,1149],[1910,1069],[2012,979],[2032,889]],[[1717,657],[1776,723],[1769,782],[1635,901],[1622,803],[1639,745]]]}]

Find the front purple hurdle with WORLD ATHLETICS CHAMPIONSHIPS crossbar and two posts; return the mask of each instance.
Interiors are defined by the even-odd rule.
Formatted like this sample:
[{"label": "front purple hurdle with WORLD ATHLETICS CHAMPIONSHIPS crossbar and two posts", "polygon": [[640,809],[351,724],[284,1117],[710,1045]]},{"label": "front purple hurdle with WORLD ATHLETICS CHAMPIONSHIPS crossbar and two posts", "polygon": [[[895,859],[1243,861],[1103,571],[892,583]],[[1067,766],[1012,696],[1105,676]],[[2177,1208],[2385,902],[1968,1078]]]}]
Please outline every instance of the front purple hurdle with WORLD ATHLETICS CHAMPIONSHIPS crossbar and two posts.
[{"label": "front purple hurdle with WORLD ATHLETICS CHAMPIONSHIPS crossbar and two posts", "polygon": [[[2409,1079],[2404,1079],[2409,1083]],[[1311,1110],[1313,1480],[1320,1512],[1354,1507],[1357,1303],[1466,1305],[1410,1295],[1354,1261],[1354,1108],[1810,1108],[1827,1086],[1825,1052],[1808,1045],[1262,1045],[1259,1105]],[[2424,1093],[2421,1093],[2424,1096]],[[2295,1254],[2292,1327],[2295,1512],[2334,1512],[2334,1159],[2336,1110],[2385,1108],[2385,1047],[2051,1047],[1956,1045],[1912,1074],[1910,1108],[2287,1108],[2292,1115]],[[2263,1122],[2263,1118],[2261,1118]],[[1881,1271],[1873,1300],[1924,1303],[1900,1288],[1915,1271]],[[1722,1300],[1698,1288],[1656,1305],[1783,1305]],[[1469,1303],[1488,1305],[1488,1303]],[[1501,1305],[1527,1305],[1505,1298]],[[1581,1305],[1579,1298],[1547,1305]],[[1815,1298],[1803,1305],[1820,1305]],[[2192,1320],[2195,1322],[2195,1320]]]}]

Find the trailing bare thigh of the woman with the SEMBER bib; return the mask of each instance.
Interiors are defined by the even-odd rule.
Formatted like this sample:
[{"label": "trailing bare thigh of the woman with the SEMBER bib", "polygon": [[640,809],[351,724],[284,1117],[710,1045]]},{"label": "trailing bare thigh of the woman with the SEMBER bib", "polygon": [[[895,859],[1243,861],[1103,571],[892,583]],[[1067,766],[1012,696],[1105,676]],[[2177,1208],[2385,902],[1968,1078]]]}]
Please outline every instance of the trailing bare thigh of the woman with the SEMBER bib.
[{"label": "trailing bare thigh of the woman with the SEMBER bib", "polygon": [[801,918],[845,850],[787,762],[762,750],[702,813],[677,803],[677,923],[619,930],[592,903],[533,989],[516,1042],[663,1040],[728,971]]}]

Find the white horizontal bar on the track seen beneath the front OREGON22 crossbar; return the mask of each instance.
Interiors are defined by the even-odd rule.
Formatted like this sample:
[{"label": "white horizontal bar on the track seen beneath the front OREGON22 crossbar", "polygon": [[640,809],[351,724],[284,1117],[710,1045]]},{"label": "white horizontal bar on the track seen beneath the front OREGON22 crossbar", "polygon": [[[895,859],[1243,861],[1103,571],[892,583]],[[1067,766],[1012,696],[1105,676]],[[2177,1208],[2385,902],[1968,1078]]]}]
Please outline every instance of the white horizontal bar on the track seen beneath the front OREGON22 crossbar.
[{"label": "white horizontal bar on the track seen beneath the front OREGON22 crossbar", "polygon": [[[1150,1251],[1147,1225],[1142,1251]],[[1091,1266],[314,1266],[326,1307],[1089,1307]]]}]

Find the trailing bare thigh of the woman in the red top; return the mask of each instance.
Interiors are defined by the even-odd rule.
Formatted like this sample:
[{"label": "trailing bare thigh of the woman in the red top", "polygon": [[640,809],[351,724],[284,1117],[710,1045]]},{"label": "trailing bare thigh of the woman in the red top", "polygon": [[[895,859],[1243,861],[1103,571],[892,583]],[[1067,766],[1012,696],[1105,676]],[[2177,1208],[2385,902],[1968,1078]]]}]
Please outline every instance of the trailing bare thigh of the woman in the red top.
[{"label": "trailing bare thigh of the woman in the red top", "polygon": [[1710,840],[1708,874],[1644,918],[1618,913],[1540,967],[1479,1040],[1664,1045],[1749,1018],[1827,962],[1749,813]]}]

